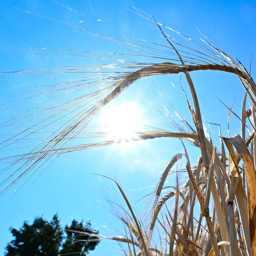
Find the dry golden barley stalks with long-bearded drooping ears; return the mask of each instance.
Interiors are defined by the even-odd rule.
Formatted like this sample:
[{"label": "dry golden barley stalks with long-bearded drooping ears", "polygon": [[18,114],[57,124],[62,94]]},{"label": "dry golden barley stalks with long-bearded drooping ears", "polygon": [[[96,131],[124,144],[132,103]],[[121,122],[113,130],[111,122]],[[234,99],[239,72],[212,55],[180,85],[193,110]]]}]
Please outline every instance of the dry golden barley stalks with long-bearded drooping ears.
[{"label": "dry golden barley stalks with long-bearded drooping ears", "polygon": [[[155,75],[183,73],[187,78],[193,98],[193,104],[189,102],[188,98],[184,104],[188,104],[194,127],[187,126],[183,130],[183,128],[179,128],[180,126],[177,123],[174,123],[173,125],[178,127],[178,131],[171,132],[161,129],[137,131],[134,140],[160,137],[188,140],[195,147],[201,149],[198,164],[197,166],[191,166],[189,152],[184,146],[185,154],[177,153],[170,160],[157,181],[151,198],[145,206],[145,209],[148,210],[145,210],[143,216],[135,215],[125,192],[115,181],[129,211],[124,211],[124,215],[119,216],[125,225],[125,235],[121,238],[113,237],[109,239],[128,244],[127,255],[130,256],[256,255],[255,82],[240,62],[234,61],[213,44],[206,43],[206,46],[203,46],[177,33],[177,36],[187,40],[187,44],[192,44],[192,46],[187,46],[174,39],[168,39],[165,32],[162,31],[162,24],[158,22],[156,24],[159,33],[164,36],[164,39],[171,46],[168,50],[170,53],[172,52],[172,55],[170,55],[172,57],[166,53],[169,62],[144,64],[127,61],[122,65],[117,63],[112,66],[115,69],[125,67],[125,69],[129,69],[128,71],[114,71],[113,73],[108,71],[109,67],[104,65],[102,68],[106,69],[105,74],[85,79],[86,81],[79,89],[88,90],[88,93],[83,94],[83,96],[52,105],[47,110],[42,108],[40,112],[31,109],[1,124],[1,128],[5,128],[8,125],[19,123],[20,120],[24,122],[20,129],[6,134],[1,141],[2,148],[6,149],[10,145],[12,147],[19,142],[25,143],[27,138],[33,137],[36,133],[43,133],[49,123],[62,122],[64,112],[71,111],[74,113],[74,108],[76,111],[76,114],[69,121],[63,123],[51,135],[41,137],[41,141],[32,150],[28,150],[28,152],[21,155],[7,156],[1,159],[1,163],[7,164],[2,172],[17,166],[15,172],[1,182],[0,185],[3,187],[1,195],[20,179],[34,174],[42,164],[52,157],[78,150],[123,143],[121,140],[110,139],[88,144],[71,144],[73,140],[80,137],[106,136],[105,132],[97,131],[95,127],[92,127],[92,130],[86,130],[88,123],[104,106],[132,86],[138,79]],[[163,28],[168,29],[167,27]],[[103,35],[100,36],[107,38]],[[119,44],[129,44],[113,38],[111,40]],[[135,47],[135,45],[132,46]],[[136,45],[136,47],[141,50],[146,49],[149,52],[158,51],[157,48],[146,48],[146,46],[141,45]],[[147,55],[147,57],[150,58],[151,56]],[[155,59],[155,56],[153,57]],[[76,69],[76,72],[95,75],[96,68],[98,66],[86,66]],[[236,75],[251,101],[251,109],[245,109],[246,96],[241,106],[241,136],[238,134],[230,138],[220,136],[220,152],[205,136],[197,92],[189,75],[192,71],[203,70],[222,71]],[[54,73],[60,72],[60,70],[57,67],[49,67],[48,69],[19,72]],[[66,69],[65,72],[73,71]],[[63,83],[61,86],[65,90],[67,84]],[[75,83],[71,83],[69,86],[75,88]],[[59,88],[53,88],[46,93],[51,94],[54,90],[59,90]],[[62,92],[62,90],[59,91]],[[30,96],[24,96],[20,100]],[[82,106],[80,106],[81,103]],[[235,114],[230,109],[231,113]],[[34,119],[34,123],[31,123],[29,117],[33,115],[37,118]],[[249,136],[246,138],[247,134]],[[223,141],[226,144],[226,150]],[[187,163],[181,170],[187,170],[187,181],[181,183],[177,177],[175,187],[164,187],[170,171],[184,157]],[[176,170],[176,172],[179,172],[179,170]],[[212,204],[210,199],[212,199]],[[198,209],[200,209],[200,213]]]}]

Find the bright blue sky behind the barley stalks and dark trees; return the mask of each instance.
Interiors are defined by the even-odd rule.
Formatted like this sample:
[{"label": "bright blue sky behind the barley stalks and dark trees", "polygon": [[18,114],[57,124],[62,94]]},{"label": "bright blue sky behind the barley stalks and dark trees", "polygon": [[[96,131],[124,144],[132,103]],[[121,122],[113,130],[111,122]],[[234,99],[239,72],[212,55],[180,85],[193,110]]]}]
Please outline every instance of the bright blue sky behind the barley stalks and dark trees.
[{"label": "bright blue sky behind the barley stalks and dark trees", "polygon": [[[161,1],[160,3],[139,0],[128,1],[128,3],[127,1],[60,1],[59,3],[40,0],[2,1],[0,72],[49,66],[113,63],[113,61],[108,60],[62,54],[77,54],[78,52],[61,51],[62,53],[60,53],[56,50],[54,53],[53,51],[49,52],[49,50],[48,52],[39,52],[35,51],[34,48],[140,54],[137,50],[120,46],[79,27],[135,44],[156,47],[156,45],[136,39],[140,38],[168,46],[164,38],[147,24],[146,19],[137,15],[133,6],[139,9],[142,14],[144,12],[149,15],[143,14],[145,17],[150,18],[153,15],[162,24],[203,44],[199,40],[203,37],[198,31],[200,30],[222,51],[230,56],[236,56],[247,69],[249,69],[252,54],[251,74],[253,77],[256,39],[256,9],[253,1]],[[74,26],[57,21],[63,21]],[[110,26],[106,26],[104,23]],[[133,37],[122,34],[112,27]],[[177,40],[182,40],[178,34],[167,28],[165,31]],[[82,54],[88,55],[89,53]],[[148,61],[144,57],[135,58],[97,53],[93,53],[91,56]],[[150,61],[153,60],[150,59]],[[156,59],[156,62],[159,60]],[[1,73],[0,103],[2,113],[4,113],[2,118],[8,119],[13,115],[18,115],[22,112],[22,107],[36,106],[38,100],[39,102],[47,102],[49,94],[30,97],[22,102],[6,105],[14,99],[13,97],[28,93],[31,95],[42,88],[48,90],[45,89],[47,88],[45,85],[53,81],[57,83],[83,77],[83,74],[65,74],[54,77],[51,77],[52,74],[50,74],[49,78],[38,80],[38,78],[48,75],[43,73]],[[198,92],[203,121],[221,124],[222,135],[228,136],[228,110],[215,96],[229,107],[234,102],[233,109],[240,115],[240,106],[244,96],[240,81],[234,75],[220,72],[205,71],[193,73],[191,76]],[[164,104],[171,113],[174,113],[172,106],[177,106],[192,124],[184,94],[179,87],[179,80],[180,75],[142,79],[128,88],[123,95],[117,97],[113,104],[136,103],[143,123],[162,129],[171,128],[164,124],[166,121],[164,117],[159,118],[158,110],[162,109],[162,104]],[[33,82],[25,84],[28,81]],[[181,79],[181,84],[189,94],[184,77]],[[44,87],[35,87],[38,85]],[[73,92],[71,96],[78,96],[81,92],[84,93],[83,91]],[[165,100],[167,98],[165,93],[168,94],[170,100]],[[62,98],[68,99],[69,96],[65,95]],[[58,98],[56,102],[62,98]],[[109,109],[111,110],[111,105]],[[96,116],[92,121],[93,125],[99,125],[98,117]],[[33,118],[29,121],[33,123]],[[233,128],[230,130],[230,135],[232,136],[240,131],[240,127],[236,126],[234,116],[231,117],[231,123]],[[11,125],[1,127],[2,138],[5,138],[4,135],[12,129],[13,126]],[[218,130],[215,126],[212,126],[212,136],[218,141]],[[36,138],[34,139],[36,140]],[[91,141],[93,139],[90,139]],[[185,145],[189,147],[188,143]],[[5,157],[22,154],[24,150],[26,148],[2,151],[1,154]],[[103,235],[119,235],[117,230],[122,227],[122,224],[115,221],[115,217],[111,215],[111,209],[108,209],[109,206],[104,200],[107,197],[113,201],[122,201],[115,184],[91,173],[115,177],[121,183],[131,202],[135,204],[139,198],[150,193],[152,190],[150,186],[154,185],[154,179],[161,174],[161,168],[165,166],[168,160],[176,153],[183,153],[183,151],[183,146],[179,140],[166,138],[126,143],[124,146],[93,148],[59,156],[48,168],[46,168],[47,166],[40,168],[23,186],[22,184],[27,180],[26,177],[0,198],[2,205],[0,211],[2,238],[0,254],[4,252],[7,243],[12,240],[9,232],[10,226],[20,228],[24,220],[32,223],[36,216],[42,215],[47,220],[51,220],[56,212],[63,226],[70,224],[72,218],[84,219],[85,221],[90,219],[93,227],[100,230]],[[192,152],[191,157],[194,158],[194,162],[197,161],[197,154],[198,152]],[[46,170],[44,170],[45,168]],[[8,172],[15,172],[15,166],[10,168]],[[6,175],[8,176],[7,172],[0,176],[1,181]],[[141,189],[143,187],[147,188]],[[4,186],[1,187],[1,190],[4,188]],[[15,191],[18,192],[15,193]],[[143,203],[143,200],[142,203],[137,203],[137,208],[135,207],[137,212],[141,210]],[[115,242],[102,241],[90,255],[120,255],[120,251]]]}]

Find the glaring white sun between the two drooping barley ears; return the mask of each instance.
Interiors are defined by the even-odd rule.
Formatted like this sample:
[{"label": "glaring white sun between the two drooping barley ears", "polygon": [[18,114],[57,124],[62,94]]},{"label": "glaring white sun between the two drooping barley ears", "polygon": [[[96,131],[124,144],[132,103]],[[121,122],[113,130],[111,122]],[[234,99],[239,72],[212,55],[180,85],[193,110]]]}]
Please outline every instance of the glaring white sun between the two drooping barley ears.
[{"label": "glaring white sun between the two drooping barley ears", "polygon": [[135,140],[136,131],[141,131],[145,125],[141,119],[141,112],[134,102],[112,105],[110,109],[103,109],[99,122],[104,127],[104,131],[109,133],[109,137],[124,142]]}]

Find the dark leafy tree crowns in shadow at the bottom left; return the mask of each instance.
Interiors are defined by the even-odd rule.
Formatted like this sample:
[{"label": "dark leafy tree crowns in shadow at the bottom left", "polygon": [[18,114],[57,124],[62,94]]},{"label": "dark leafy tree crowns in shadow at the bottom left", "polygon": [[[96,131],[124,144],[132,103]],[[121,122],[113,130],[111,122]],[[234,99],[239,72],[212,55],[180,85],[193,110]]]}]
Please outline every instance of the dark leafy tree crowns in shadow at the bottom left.
[{"label": "dark leafy tree crowns in shadow at the bottom left", "polygon": [[90,222],[73,220],[70,226],[65,226],[64,234],[57,214],[51,222],[37,217],[32,225],[25,221],[20,230],[10,228],[10,231],[15,239],[5,248],[6,256],[56,256],[69,253],[82,256],[94,250],[100,241],[98,231],[91,229]]}]

